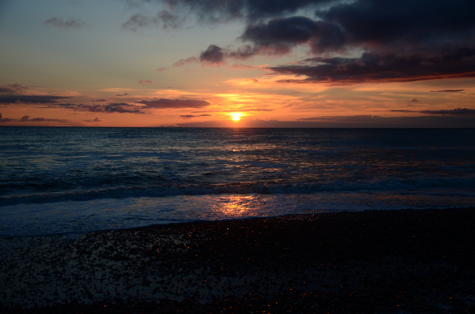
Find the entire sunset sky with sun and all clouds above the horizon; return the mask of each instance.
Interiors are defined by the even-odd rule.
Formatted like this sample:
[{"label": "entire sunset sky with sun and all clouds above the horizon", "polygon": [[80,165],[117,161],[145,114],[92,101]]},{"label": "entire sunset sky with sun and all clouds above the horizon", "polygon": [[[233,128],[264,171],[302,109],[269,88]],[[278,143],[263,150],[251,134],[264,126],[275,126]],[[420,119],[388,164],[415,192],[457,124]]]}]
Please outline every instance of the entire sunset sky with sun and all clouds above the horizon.
[{"label": "entire sunset sky with sun and all clouds above the horizon", "polygon": [[0,0],[0,126],[475,127],[474,11]]}]

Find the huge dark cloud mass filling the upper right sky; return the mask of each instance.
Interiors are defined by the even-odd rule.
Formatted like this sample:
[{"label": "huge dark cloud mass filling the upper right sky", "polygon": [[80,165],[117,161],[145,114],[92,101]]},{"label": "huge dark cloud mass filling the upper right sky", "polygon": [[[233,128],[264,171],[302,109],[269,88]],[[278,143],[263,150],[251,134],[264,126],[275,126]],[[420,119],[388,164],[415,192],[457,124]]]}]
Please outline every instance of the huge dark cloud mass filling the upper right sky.
[{"label": "huge dark cloud mass filling the upper right sky", "polygon": [[[228,59],[288,54],[304,45],[315,58],[268,69],[306,79],[280,83],[475,77],[475,19],[469,13],[475,10],[474,1],[454,0],[450,5],[429,0],[163,1],[177,8],[177,14],[193,14],[202,22],[247,23],[238,37],[245,45],[235,50],[209,45],[199,58],[182,59],[175,66],[196,61],[222,65]],[[363,53],[348,57],[356,51]]]}]

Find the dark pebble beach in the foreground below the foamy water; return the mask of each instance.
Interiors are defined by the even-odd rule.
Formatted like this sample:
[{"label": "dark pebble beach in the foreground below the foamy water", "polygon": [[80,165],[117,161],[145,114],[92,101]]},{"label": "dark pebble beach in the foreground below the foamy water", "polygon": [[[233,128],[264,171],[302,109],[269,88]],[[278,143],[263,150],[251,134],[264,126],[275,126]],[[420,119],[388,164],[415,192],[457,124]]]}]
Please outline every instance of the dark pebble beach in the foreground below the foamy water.
[{"label": "dark pebble beach in the foreground below the foamy water", "polygon": [[475,208],[0,239],[2,313],[475,313]]}]

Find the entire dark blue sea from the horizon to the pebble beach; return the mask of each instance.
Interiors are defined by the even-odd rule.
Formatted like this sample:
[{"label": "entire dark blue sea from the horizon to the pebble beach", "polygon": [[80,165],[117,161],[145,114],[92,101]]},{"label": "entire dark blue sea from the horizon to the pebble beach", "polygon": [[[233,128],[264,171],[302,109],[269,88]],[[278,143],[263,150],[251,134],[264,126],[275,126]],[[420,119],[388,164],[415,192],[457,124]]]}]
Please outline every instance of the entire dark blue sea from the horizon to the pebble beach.
[{"label": "entire dark blue sea from the horizon to the pebble beach", "polygon": [[475,205],[475,129],[0,127],[0,236]]}]

